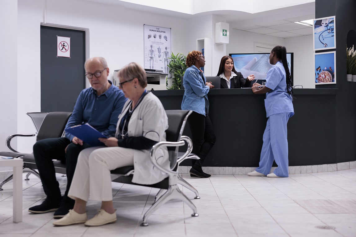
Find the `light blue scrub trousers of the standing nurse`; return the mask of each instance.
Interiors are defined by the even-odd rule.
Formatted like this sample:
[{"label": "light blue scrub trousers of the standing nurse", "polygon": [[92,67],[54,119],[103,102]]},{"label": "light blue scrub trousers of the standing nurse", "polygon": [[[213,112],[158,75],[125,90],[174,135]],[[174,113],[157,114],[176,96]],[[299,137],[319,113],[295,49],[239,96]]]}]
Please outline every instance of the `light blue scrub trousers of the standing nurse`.
[{"label": "light blue scrub trousers of the standing nurse", "polygon": [[273,160],[276,160],[278,167],[273,173],[278,177],[288,177],[287,122],[292,116],[293,113],[280,113],[268,117],[257,172],[269,174]]}]

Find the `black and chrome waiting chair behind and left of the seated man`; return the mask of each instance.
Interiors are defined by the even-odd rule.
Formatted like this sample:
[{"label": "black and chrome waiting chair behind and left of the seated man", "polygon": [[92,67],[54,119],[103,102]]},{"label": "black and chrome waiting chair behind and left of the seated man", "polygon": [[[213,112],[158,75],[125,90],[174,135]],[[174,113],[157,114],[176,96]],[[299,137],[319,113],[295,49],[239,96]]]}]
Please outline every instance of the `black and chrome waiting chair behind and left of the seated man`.
[{"label": "black and chrome waiting chair behind and left of the seated man", "polygon": [[[67,121],[71,114],[72,114],[72,112],[50,112],[50,113],[48,113],[45,116],[45,118],[43,119],[40,129],[38,130],[36,142],[40,141],[42,139],[46,139],[46,138],[62,137],[64,128],[66,127]],[[11,143],[11,139],[14,137],[33,137],[35,135],[36,135],[36,133],[34,133],[34,134],[12,134],[9,137],[7,137],[7,139],[6,139],[6,146],[12,152],[0,152],[0,156],[9,156],[9,157],[23,159],[23,173],[28,173],[26,175],[26,179],[28,179],[29,174],[34,174],[38,178],[40,178],[40,175],[35,170],[35,169],[37,169],[36,163],[35,163],[35,158],[33,157],[32,154],[21,153],[21,152],[16,151],[14,148],[11,147],[10,143]],[[12,175],[10,175],[4,181],[2,181],[2,183],[0,184],[0,190],[2,190],[2,185],[7,183],[8,181],[10,181],[11,179],[12,179]]]}]

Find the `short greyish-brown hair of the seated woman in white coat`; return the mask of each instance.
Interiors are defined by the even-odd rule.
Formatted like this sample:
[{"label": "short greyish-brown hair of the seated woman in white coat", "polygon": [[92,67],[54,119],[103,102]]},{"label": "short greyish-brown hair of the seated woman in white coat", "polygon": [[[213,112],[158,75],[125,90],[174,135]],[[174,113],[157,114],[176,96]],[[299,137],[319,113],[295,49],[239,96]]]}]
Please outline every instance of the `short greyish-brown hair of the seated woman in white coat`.
[{"label": "short greyish-brown hair of the seated woman in white coat", "polygon": [[145,88],[147,86],[147,76],[145,70],[138,65],[137,63],[129,63],[117,74],[119,78],[125,78],[126,80],[130,80],[133,78],[138,79],[138,84]]}]

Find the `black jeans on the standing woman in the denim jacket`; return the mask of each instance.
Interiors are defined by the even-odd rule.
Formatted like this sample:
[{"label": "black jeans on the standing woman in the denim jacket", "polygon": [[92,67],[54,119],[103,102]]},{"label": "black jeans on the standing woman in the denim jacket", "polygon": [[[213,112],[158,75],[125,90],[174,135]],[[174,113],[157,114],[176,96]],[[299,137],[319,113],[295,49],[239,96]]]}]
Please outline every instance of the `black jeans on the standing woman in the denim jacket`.
[{"label": "black jeans on the standing woman in the denim jacket", "polygon": [[199,160],[192,159],[192,165],[201,166],[210,149],[214,146],[216,136],[209,116],[192,112],[188,117],[188,124],[192,132],[193,151],[192,153],[200,157]]}]

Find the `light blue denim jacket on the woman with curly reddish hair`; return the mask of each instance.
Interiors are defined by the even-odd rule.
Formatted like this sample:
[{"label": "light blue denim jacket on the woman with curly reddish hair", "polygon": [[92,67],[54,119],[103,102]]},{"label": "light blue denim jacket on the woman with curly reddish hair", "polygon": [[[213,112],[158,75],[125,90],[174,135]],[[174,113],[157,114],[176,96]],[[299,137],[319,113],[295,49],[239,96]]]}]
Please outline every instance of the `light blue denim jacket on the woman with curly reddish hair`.
[{"label": "light blue denim jacket on the woman with curly reddish hair", "polygon": [[[203,79],[204,78],[204,79]],[[209,112],[209,86],[205,85],[206,78],[197,67],[187,68],[183,77],[184,96],[182,110],[192,110],[204,116]]]}]

